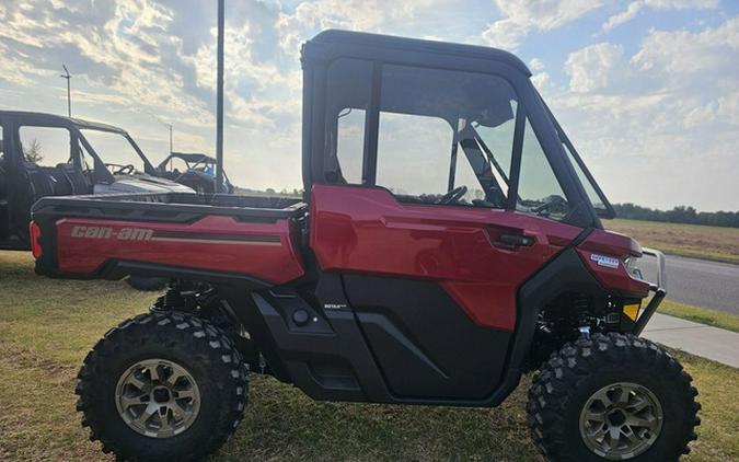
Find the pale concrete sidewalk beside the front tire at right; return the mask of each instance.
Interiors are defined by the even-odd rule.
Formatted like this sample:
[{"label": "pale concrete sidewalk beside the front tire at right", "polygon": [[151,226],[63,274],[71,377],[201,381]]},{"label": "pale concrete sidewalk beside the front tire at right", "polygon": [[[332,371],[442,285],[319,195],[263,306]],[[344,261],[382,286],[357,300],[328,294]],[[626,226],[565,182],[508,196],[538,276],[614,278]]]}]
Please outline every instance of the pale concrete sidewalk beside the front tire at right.
[{"label": "pale concrete sidewalk beside the front tire at right", "polygon": [[739,368],[739,333],[655,313],[643,337]]}]

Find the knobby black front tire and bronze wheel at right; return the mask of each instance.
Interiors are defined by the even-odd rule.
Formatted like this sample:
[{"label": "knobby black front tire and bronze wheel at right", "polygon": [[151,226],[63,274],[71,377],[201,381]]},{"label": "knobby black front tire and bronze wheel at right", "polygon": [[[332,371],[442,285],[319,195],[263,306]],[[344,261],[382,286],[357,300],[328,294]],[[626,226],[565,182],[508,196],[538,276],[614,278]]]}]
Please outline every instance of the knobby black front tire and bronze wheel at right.
[{"label": "knobby black front tire and bronze wheel at right", "polygon": [[[579,338],[552,354],[531,384],[528,414],[533,440],[551,461],[677,461],[690,451],[688,443],[696,438],[693,428],[701,423],[691,380],[669,353],[645,338],[624,334]],[[609,403],[612,406],[605,406]],[[600,427],[598,419],[584,424],[586,415],[607,417]],[[624,418],[648,419],[654,428],[621,427]],[[607,427],[614,432],[623,428],[616,437],[626,444],[621,453],[603,451],[590,436]],[[630,434],[635,438],[627,438]],[[607,444],[617,446],[610,436]]]}]

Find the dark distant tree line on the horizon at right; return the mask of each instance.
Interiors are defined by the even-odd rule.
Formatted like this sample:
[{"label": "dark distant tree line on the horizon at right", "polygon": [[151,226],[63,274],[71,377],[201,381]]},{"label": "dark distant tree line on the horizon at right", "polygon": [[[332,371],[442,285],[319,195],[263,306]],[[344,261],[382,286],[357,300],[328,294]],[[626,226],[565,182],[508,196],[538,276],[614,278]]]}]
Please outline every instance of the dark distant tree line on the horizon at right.
[{"label": "dark distant tree line on the horizon at right", "polygon": [[697,211],[688,206],[678,206],[672,210],[657,210],[634,204],[614,204],[613,209],[617,218],[632,220],[739,228],[739,211]]}]

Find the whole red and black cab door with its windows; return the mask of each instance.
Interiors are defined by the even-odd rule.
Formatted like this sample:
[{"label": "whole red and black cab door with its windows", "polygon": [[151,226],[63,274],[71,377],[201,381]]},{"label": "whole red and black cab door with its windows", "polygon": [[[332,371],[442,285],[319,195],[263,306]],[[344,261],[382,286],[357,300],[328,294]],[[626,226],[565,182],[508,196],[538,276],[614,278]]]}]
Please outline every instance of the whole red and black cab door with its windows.
[{"label": "whole red and black cab door with its windows", "polygon": [[582,230],[566,222],[542,119],[492,73],[337,59],[326,89],[311,192],[320,268],[342,275],[395,395],[484,399],[518,288]]}]

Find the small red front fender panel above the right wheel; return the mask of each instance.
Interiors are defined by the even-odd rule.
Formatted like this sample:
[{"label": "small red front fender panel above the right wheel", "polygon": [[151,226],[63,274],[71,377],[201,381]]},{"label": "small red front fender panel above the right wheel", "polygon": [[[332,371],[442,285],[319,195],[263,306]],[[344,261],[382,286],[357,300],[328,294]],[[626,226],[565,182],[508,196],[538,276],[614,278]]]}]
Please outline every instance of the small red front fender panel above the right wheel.
[{"label": "small red front fender panel above the right wheel", "polygon": [[[612,231],[593,230],[577,247],[577,252],[590,273],[607,289],[633,293],[638,297],[649,294],[649,284],[634,278],[623,263],[626,255],[642,256],[642,246],[624,234]],[[593,255],[605,255],[619,261],[616,268],[599,265]]]}]

